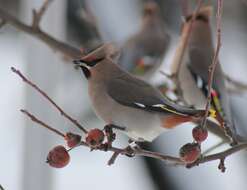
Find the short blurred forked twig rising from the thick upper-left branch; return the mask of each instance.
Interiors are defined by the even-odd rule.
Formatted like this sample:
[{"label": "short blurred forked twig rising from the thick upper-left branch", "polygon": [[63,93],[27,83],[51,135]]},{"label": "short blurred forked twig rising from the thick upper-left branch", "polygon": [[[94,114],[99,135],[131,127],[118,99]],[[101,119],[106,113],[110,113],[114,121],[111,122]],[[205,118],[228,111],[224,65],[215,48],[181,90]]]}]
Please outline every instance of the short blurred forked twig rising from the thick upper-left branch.
[{"label": "short blurred forked twig rising from the thick upper-left branch", "polygon": [[40,7],[40,9],[37,11],[33,9],[33,23],[32,27],[33,29],[39,28],[39,23],[45,13],[45,11],[48,9],[49,5],[52,3],[53,0],[45,0],[43,5]]}]

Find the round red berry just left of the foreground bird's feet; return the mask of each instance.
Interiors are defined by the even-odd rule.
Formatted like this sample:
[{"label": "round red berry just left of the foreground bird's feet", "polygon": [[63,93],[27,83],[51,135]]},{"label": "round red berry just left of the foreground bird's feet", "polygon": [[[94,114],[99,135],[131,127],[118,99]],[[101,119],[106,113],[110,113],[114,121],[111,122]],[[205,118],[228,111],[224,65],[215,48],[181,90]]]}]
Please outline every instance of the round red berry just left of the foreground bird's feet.
[{"label": "round red berry just left of the foreground bird's feet", "polygon": [[98,147],[104,141],[105,134],[100,129],[92,129],[87,133],[86,143],[91,147]]}]

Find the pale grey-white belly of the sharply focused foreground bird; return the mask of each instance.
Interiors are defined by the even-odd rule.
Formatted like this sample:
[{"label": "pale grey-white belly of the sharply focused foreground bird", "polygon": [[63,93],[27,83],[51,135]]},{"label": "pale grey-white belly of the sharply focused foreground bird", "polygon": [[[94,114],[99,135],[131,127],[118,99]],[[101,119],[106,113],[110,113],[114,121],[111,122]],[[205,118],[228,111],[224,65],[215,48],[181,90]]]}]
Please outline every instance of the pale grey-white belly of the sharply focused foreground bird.
[{"label": "pale grey-white belly of the sharply focused foreground bird", "polygon": [[95,113],[106,124],[125,127],[125,133],[131,139],[152,141],[166,130],[161,127],[162,122],[158,114],[121,105],[102,92],[104,91],[101,91],[100,98],[90,95]]}]

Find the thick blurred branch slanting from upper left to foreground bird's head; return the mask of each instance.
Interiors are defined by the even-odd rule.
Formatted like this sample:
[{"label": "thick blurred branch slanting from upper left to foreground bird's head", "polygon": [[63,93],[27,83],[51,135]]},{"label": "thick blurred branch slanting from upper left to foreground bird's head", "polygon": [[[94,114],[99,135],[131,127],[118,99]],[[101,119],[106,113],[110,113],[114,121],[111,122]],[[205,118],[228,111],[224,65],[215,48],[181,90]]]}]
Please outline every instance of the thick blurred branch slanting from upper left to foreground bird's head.
[{"label": "thick blurred branch slanting from upper left to foreground bird's head", "polygon": [[33,26],[24,24],[23,22],[19,21],[17,18],[8,14],[3,8],[0,8],[0,18],[4,20],[6,23],[14,26],[16,29],[21,30],[27,34],[30,34],[40,39],[49,47],[51,47],[53,50],[59,51],[66,57],[69,57],[71,59],[80,58],[81,52],[79,49],[55,39],[46,32],[42,31],[39,27],[34,28]]}]

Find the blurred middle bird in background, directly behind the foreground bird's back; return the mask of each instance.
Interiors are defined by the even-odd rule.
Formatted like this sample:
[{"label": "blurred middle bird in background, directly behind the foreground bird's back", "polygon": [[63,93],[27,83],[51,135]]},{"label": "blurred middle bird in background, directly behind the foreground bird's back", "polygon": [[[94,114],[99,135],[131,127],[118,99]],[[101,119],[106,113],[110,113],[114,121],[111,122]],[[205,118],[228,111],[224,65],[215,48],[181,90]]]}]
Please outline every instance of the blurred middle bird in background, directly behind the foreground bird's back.
[{"label": "blurred middle bird in background, directly behind the foreground bird's back", "polygon": [[120,65],[138,76],[152,75],[160,66],[170,36],[155,2],[144,5],[140,30],[122,46]]}]

